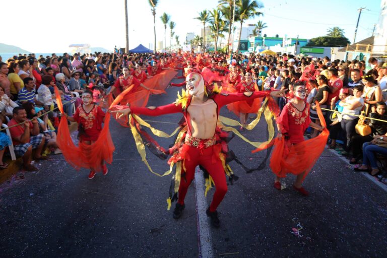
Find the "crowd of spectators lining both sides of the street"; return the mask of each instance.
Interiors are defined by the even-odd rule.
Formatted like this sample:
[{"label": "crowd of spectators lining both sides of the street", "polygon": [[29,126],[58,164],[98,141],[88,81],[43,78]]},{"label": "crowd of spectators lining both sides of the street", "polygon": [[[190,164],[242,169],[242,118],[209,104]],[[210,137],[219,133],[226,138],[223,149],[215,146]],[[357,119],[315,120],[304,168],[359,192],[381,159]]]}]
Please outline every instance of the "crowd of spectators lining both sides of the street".
[{"label": "crowd of spectators lining both sides of the street", "polygon": [[[36,149],[35,159],[46,158],[41,154],[47,153],[43,150],[47,147],[52,153],[60,152],[55,143],[55,127],[51,125],[55,125],[54,112],[49,112],[41,119],[33,119],[37,114],[56,107],[54,85],[59,89],[62,101],[66,103],[65,112],[71,116],[74,106],[81,104],[80,95],[88,87],[108,89],[124,68],[134,71],[140,67],[149,73],[149,67],[170,63],[172,58],[180,58],[189,67],[198,64],[195,63],[198,60],[192,56],[177,57],[170,53],[63,53],[62,56],[52,54],[38,57],[34,54],[19,54],[5,62],[0,57],[0,118],[9,126],[22,123],[10,128],[10,131],[15,153],[23,157],[24,168],[36,169],[30,162],[32,149]],[[249,72],[260,90],[289,89],[286,97],[277,100],[280,108],[294,97],[292,86],[302,80],[305,71],[312,66],[315,76],[308,78],[309,91],[306,99],[311,104],[311,119],[319,123],[314,104],[316,101],[322,108],[343,112],[338,114],[323,110],[330,130],[328,147],[347,156],[353,164],[362,161],[363,164],[356,167],[357,169],[370,171],[373,175],[379,173],[377,166],[375,167],[375,158],[370,153],[373,153],[373,157],[376,157],[376,153],[384,156],[387,154],[387,146],[377,145],[377,139],[375,140],[375,137],[387,138],[387,123],[383,122],[386,120],[387,63],[373,57],[366,63],[364,60],[330,60],[329,57],[287,54],[261,56],[253,53],[233,54],[231,57],[223,53],[208,53],[202,55],[200,62],[213,71],[222,73],[229,72],[230,67],[236,67],[242,78]],[[371,128],[367,135],[360,135],[356,131],[360,114],[365,118],[362,121]],[[3,132],[0,133],[0,141],[6,139]],[[318,133],[311,130],[306,132],[311,138]],[[378,140],[382,141],[380,139]],[[0,158],[7,144],[0,144]],[[6,166],[0,159],[0,169]]]}]

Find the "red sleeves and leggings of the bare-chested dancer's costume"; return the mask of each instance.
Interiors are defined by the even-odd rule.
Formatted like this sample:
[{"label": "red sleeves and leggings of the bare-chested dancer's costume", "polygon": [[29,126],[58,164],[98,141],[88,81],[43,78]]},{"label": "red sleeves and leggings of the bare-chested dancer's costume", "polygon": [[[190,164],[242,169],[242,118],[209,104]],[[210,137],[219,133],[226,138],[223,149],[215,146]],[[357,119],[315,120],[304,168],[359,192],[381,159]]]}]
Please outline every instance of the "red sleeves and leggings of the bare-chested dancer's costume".
[{"label": "red sleeves and leggings of the bare-chested dancer's costume", "polygon": [[[212,98],[212,100],[217,104],[217,119],[219,116],[220,108],[224,105],[235,101],[265,97],[269,96],[269,94],[270,92],[254,92],[250,97],[246,97],[243,93],[233,93],[229,95],[217,94]],[[189,138],[189,136],[191,136],[190,115],[187,111],[189,103],[190,102],[188,101],[187,107],[184,109],[182,108],[181,104],[175,105],[172,103],[165,106],[156,107],[155,109],[150,109],[146,107],[132,107],[131,110],[135,114],[144,114],[151,116],[181,112],[184,115],[185,121],[188,125],[187,136]],[[195,168],[198,165],[202,165],[209,172],[215,183],[216,190],[210,205],[210,212],[215,212],[227,192],[225,173],[222,161],[219,158],[219,152],[222,147],[220,146],[220,144],[215,144],[206,148],[205,143],[212,141],[212,138],[199,140],[201,140],[201,143],[199,143],[199,145],[197,146],[193,144],[190,145],[187,143],[183,144],[183,153],[180,153],[180,156],[182,156],[182,158],[184,159],[185,180],[180,181],[180,186],[178,190],[178,203],[181,205],[184,204],[184,198],[188,190],[188,186],[195,175]]]}]

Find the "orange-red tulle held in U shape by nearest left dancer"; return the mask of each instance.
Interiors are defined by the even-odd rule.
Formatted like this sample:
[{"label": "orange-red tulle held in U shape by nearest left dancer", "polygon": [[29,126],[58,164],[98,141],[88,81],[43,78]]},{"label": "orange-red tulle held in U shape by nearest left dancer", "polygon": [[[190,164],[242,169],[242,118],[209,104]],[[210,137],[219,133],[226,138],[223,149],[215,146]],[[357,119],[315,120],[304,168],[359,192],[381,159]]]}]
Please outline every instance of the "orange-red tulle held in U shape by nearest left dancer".
[{"label": "orange-red tulle held in U shape by nearest left dancer", "polygon": [[[56,87],[55,96],[59,111],[63,113],[63,105]],[[110,136],[109,121],[110,114],[107,113],[104,126],[95,143],[87,145],[80,142],[79,147],[77,147],[70,136],[66,117],[61,117],[56,142],[63,153],[64,159],[77,170],[87,168],[98,172],[102,170],[104,161],[111,164],[115,148]]]}]

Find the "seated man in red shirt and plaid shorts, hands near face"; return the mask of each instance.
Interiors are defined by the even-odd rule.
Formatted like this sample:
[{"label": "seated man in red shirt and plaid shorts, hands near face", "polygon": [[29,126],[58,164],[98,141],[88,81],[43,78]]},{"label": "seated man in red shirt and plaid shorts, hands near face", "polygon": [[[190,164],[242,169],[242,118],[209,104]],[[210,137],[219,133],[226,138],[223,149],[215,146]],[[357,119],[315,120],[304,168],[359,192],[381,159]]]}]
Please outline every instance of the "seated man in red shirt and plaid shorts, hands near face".
[{"label": "seated man in red shirt and plaid shorts, hands near face", "polygon": [[[19,124],[22,123],[22,124]],[[11,127],[12,125],[16,125]],[[29,121],[27,112],[23,107],[15,107],[13,110],[13,118],[8,123],[12,141],[14,143],[15,155],[23,157],[23,168],[27,171],[38,170],[31,165],[32,150],[35,150],[35,160],[46,160],[48,157],[41,156],[44,147],[44,137],[39,134],[39,125],[36,119]]]}]

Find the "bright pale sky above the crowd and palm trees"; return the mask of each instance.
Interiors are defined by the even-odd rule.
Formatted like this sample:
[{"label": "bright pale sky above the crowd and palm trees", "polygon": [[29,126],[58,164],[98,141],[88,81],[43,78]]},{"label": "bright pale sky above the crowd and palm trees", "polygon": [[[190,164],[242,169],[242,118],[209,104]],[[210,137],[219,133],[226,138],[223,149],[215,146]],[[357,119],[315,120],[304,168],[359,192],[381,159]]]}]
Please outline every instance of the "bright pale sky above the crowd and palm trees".
[{"label": "bright pale sky above the crowd and palm trees", "polygon": [[[148,0],[127,0],[129,46],[140,43],[149,47],[154,42],[153,15]],[[261,20],[268,28],[264,34],[290,38],[313,38],[327,34],[328,28],[344,29],[351,43],[359,12],[361,14],[356,41],[372,35],[380,13],[380,0],[263,0]],[[187,32],[200,35],[203,27],[198,12],[211,10],[217,0],[159,0],[156,7],[156,40],[164,40],[164,25],[160,16],[165,12],[176,23],[175,35],[182,43]],[[21,19],[21,16],[24,19]],[[30,15],[33,14],[33,15]],[[125,47],[125,11],[123,0],[18,0],[2,5],[3,20],[0,43],[19,46],[30,52],[66,52],[70,44],[88,43],[91,47],[113,50]],[[6,24],[7,23],[7,24]],[[237,24],[239,26],[239,24]],[[169,46],[169,27],[167,27]],[[174,42],[174,41],[173,41]]]}]

